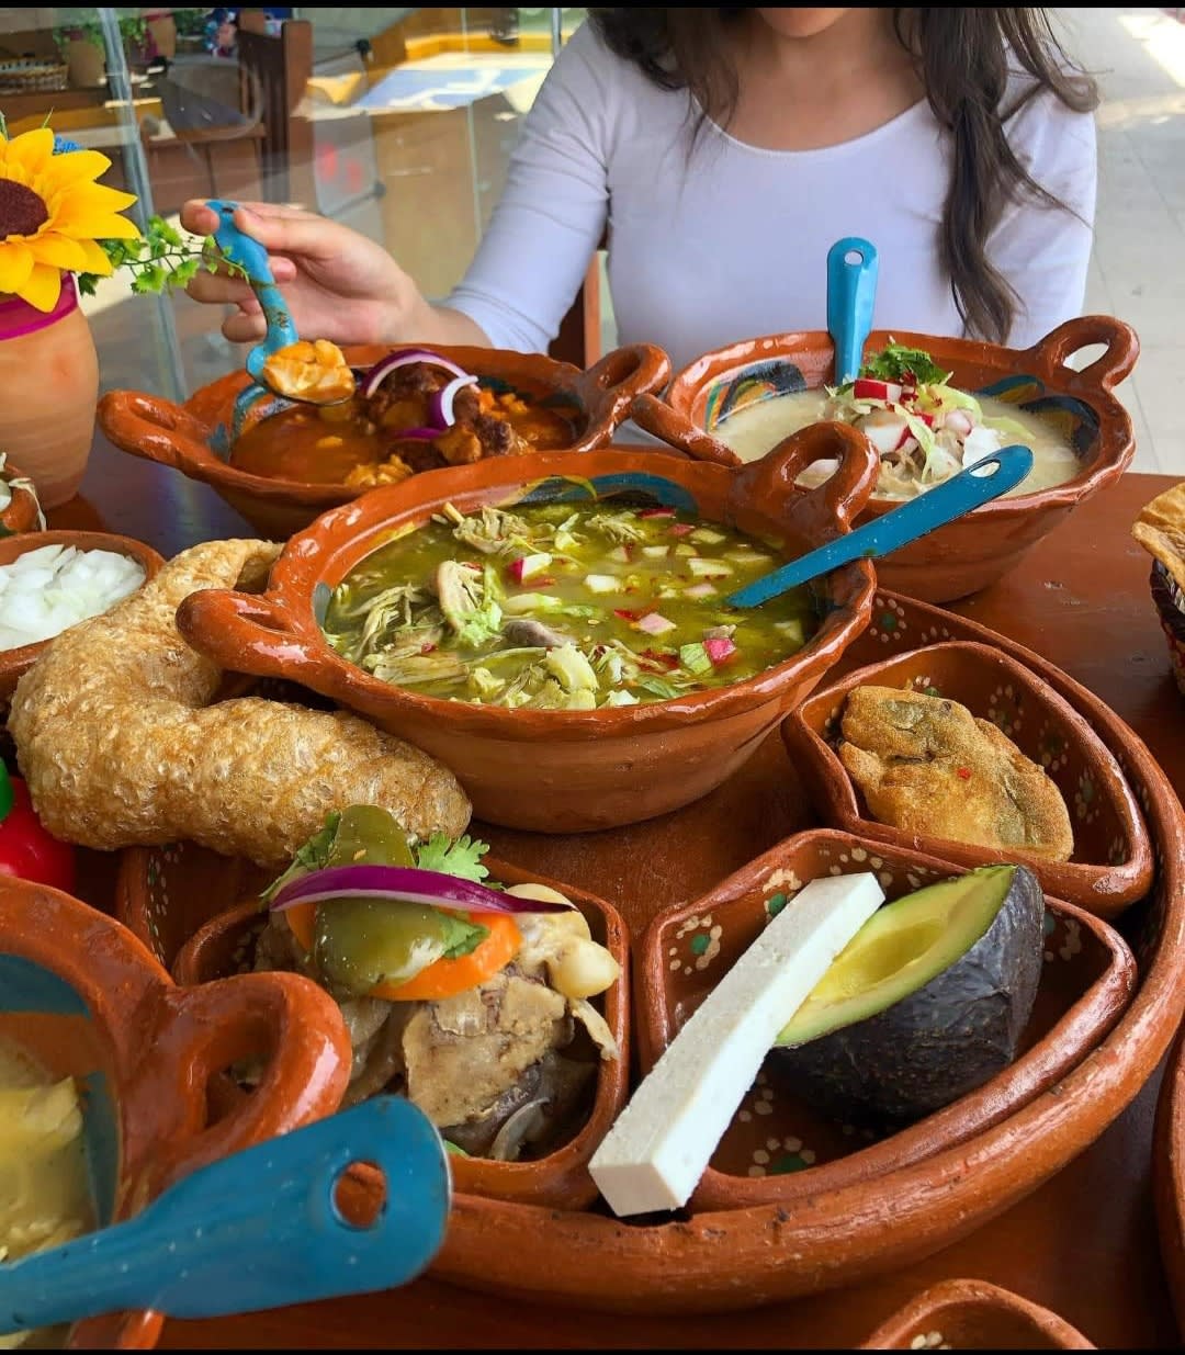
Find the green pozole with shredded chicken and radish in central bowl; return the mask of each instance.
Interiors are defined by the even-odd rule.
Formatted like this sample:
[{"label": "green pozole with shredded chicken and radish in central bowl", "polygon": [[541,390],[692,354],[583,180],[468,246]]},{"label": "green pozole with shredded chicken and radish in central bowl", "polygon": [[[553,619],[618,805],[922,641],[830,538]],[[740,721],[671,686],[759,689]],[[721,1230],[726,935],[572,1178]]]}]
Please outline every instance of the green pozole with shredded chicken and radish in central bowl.
[{"label": "green pozole with shredded chicken and radish in central bowl", "polygon": [[728,593],[777,568],[763,542],[674,508],[451,505],[334,589],[346,659],[428,696],[594,710],[742,682],[803,648],[808,588],[757,608]]}]

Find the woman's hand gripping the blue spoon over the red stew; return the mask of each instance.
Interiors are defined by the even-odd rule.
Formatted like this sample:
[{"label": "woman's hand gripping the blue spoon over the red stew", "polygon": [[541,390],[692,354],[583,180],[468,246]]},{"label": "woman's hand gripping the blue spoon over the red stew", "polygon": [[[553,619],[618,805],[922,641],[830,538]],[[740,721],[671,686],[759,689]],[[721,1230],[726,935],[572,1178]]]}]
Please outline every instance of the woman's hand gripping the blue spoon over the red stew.
[{"label": "woman's hand gripping the blue spoon over the red stew", "polygon": [[[180,211],[186,230],[210,236],[217,213],[201,199]],[[297,332],[335,343],[392,343],[430,322],[431,308],[395,259],[366,236],[328,217],[267,202],[243,203],[235,225],[268,253]],[[188,283],[195,301],[235,305],[222,333],[235,343],[263,337],[267,325],[243,278],[198,272]]]}]

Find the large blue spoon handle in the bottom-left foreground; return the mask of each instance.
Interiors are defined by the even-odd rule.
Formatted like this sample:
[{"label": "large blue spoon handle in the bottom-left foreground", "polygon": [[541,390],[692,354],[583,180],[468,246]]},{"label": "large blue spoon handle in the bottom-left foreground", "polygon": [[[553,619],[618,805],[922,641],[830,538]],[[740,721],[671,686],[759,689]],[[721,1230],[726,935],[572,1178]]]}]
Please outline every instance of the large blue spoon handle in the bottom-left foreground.
[{"label": "large blue spoon handle in the bottom-left foreground", "polygon": [[[376,1164],[369,1228],[334,1191]],[[123,1309],[224,1317],[403,1285],[441,1248],[450,1175],[433,1122],[380,1096],[202,1167],[123,1224],[0,1264],[0,1335]]]}]

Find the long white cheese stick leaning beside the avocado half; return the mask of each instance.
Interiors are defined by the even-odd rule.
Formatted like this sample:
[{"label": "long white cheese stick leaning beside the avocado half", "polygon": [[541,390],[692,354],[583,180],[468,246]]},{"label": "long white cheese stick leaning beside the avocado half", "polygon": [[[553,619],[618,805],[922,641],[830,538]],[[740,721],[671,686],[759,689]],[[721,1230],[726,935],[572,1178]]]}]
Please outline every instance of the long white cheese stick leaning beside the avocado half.
[{"label": "long white cheese stick leaning beside the avocado half", "polygon": [[588,1171],[614,1214],[679,1209],[778,1031],[884,902],[876,875],[812,879],[691,1014]]}]

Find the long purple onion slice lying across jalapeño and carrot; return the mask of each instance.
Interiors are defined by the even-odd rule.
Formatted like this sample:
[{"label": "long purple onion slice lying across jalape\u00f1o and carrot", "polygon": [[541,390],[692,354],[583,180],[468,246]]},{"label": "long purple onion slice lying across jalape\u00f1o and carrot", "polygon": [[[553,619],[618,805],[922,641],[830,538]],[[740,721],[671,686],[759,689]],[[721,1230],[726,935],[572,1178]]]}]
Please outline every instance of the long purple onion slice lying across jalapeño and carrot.
[{"label": "long purple onion slice lying across jalape\u00f1o and carrot", "polygon": [[293,904],[319,904],[327,898],[393,898],[464,913],[564,913],[574,904],[519,898],[416,866],[327,866],[289,881],[271,900],[275,912]]}]

